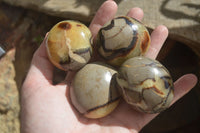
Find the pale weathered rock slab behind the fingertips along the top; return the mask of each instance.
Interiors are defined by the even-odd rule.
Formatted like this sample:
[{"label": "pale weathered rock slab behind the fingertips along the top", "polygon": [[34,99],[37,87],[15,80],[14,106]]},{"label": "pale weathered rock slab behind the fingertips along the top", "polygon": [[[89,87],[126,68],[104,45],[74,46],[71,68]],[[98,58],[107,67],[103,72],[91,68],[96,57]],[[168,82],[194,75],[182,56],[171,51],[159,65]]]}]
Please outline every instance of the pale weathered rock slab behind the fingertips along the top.
[{"label": "pale weathered rock slab behind the fingertips along the top", "polygon": [[[105,0],[3,0],[6,3],[42,11],[47,14],[90,22]],[[150,28],[163,24],[170,35],[188,44],[200,56],[200,2],[199,0],[115,0],[117,15],[125,15],[132,7],[144,10],[143,22]],[[155,4],[156,3],[156,4]]]}]

